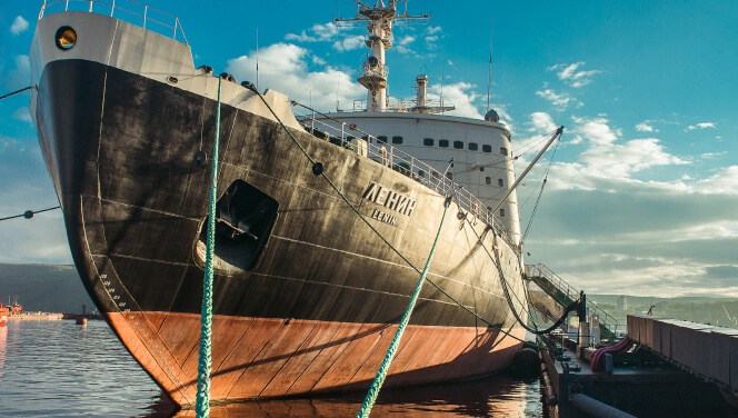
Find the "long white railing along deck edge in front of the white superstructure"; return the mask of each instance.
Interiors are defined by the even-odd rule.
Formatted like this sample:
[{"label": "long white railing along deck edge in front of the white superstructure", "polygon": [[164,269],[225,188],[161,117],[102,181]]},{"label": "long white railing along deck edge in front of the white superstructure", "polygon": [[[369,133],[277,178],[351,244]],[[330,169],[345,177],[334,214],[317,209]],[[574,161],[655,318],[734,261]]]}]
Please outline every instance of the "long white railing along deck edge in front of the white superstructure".
[{"label": "long white railing along deck edge in front of the white superstructure", "polygon": [[[443,172],[427,162],[403,152],[389,143],[385,137],[369,135],[355,125],[346,123],[292,101],[292,111],[302,127],[313,136],[336,146],[346,148],[357,155],[389,167],[412,180],[437,191],[442,196],[451,196],[461,209],[460,217],[471,217],[492,227],[511,248],[520,251],[519,245],[507,227],[471,192],[448,178]],[[299,110],[303,109],[303,110]]]}]

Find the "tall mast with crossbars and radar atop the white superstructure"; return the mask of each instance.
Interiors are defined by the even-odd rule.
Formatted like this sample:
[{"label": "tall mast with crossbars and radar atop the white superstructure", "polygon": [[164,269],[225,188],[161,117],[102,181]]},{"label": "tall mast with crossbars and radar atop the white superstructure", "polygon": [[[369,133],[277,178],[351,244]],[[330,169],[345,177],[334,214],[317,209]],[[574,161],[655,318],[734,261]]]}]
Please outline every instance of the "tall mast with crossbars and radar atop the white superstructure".
[{"label": "tall mast with crossbars and radar atop the white superstructure", "polygon": [[336,23],[347,28],[358,28],[361,22],[367,22],[368,34],[365,40],[367,48],[371,50],[359,68],[357,81],[367,91],[367,111],[381,112],[387,110],[387,73],[388,67],[385,60],[385,51],[392,48],[392,27],[411,23],[425,23],[429,16],[409,16],[407,12],[407,0],[405,0],[405,12],[397,11],[397,3],[402,0],[376,0],[375,6],[368,6],[359,0],[357,14],[351,19],[337,18]]}]

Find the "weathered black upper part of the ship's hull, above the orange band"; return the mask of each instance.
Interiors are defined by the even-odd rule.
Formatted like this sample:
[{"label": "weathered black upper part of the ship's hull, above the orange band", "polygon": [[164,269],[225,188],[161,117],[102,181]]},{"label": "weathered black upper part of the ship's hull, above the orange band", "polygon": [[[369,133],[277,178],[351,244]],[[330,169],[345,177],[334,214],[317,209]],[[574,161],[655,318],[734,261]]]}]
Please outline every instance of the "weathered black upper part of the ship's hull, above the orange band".
[{"label": "weathered black upper part of the ship's hull, above the orange band", "polygon": [[[211,153],[215,107],[215,100],[96,62],[54,61],[44,69],[37,120],[47,125],[40,140],[61,196],[74,261],[101,311],[200,311],[203,270],[195,247],[207,217],[210,165],[197,167],[193,156],[200,149]],[[223,106],[220,136],[219,193],[243,179],[273,196],[280,210],[256,268],[216,275],[215,314],[396,322],[417,272],[312,175],[281,127]],[[360,202],[357,197],[373,179],[406,190],[419,187],[375,161],[305,132],[296,136],[352,201]],[[440,221],[439,213],[428,212],[419,208],[413,217]],[[455,211],[448,219],[449,229],[458,229]],[[422,266],[435,231],[376,223]],[[449,258],[450,251],[449,242],[440,243],[430,278],[502,325],[507,306],[499,283],[455,275],[478,259],[487,258],[493,268],[491,260],[481,248],[459,260]],[[121,289],[113,299],[101,285],[111,281],[114,288],[118,280]],[[477,325],[431,286],[421,297],[411,324]]]}]

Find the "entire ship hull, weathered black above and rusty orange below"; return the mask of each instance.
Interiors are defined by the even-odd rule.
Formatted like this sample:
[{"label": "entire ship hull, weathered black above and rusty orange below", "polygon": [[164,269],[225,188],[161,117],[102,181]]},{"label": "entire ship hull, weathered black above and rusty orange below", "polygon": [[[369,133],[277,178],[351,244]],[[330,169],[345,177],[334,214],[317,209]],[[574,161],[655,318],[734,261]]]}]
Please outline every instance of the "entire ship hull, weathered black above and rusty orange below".
[{"label": "entire ship hull, weathered black above and rusty orange below", "polygon": [[[78,16],[43,18],[34,43]],[[117,42],[140,29],[93,19],[116,22]],[[196,157],[212,156],[218,80],[193,76],[207,77],[198,92],[87,58],[50,59],[43,48],[31,53],[38,68],[31,113],[72,257],[121,342],[176,402],[189,406],[211,177],[209,158],[200,165]],[[249,100],[246,89],[225,84],[226,94],[243,90]],[[219,199],[245,185],[249,196],[273,202],[273,216],[260,218],[266,227],[245,252],[239,246],[248,240],[216,242],[211,399],[365,389],[430,253],[446,197],[290,128],[357,216],[312,172],[285,129],[259,113],[233,100],[221,106]],[[413,210],[367,198],[377,185],[415,201]],[[519,258],[493,229],[461,212],[451,203],[428,275],[436,286],[420,295],[388,386],[493,372],[521,347],[525,331],[509,312],[498,275],[501,269],[513,293],[522,295]]]}]

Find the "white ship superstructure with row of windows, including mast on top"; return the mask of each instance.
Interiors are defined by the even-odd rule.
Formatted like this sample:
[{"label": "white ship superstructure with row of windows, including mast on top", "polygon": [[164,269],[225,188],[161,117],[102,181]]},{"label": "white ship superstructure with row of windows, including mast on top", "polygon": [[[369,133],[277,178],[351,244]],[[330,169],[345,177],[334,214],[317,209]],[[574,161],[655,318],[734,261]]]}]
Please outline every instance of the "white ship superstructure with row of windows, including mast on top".
[{"label": "white ship superstructure with row of windows, including mast on top", "polygon": [[[500,122],[498,113],[488,109],[483,120],[445,116],[455,110],[443,103],[442,97],[430,99],[429,78],[416,77],[415,100],[390,100],[389,64],[385,51],[391,48],[395,36],[392,28],[398,24],[428,21],[427,14],[409,16],[397,0],[376,1],[373,6],[357,1],[353,18],[336,19],[339,26],[361,28],[366,24],[366,46],[370,49],[357,71],[357,81],[367,89],[366,104],[351,110],[328,113],[317,129],[329,135],[347,138],[349,141],[362,139],[379,147],[391,146],[428,162],[437,171],[428,172],[418,167],[412,176],[428,182],[438,181],[433,176],[443,173],[479,198],[477,213],[489,211],[520,243],[520,217],[517,192],[512,192],[500,205],[509,188],[515,183],[512,143],[510,130]],[[363,101],[360,101],[361,103]],[[393,104],[393,106],[391,106]],[[308,115],[306,115],[308,117]],[[320,118],[318,118],[320,119]],[[338,126],[330,119],[340,120],[345,126],[356,127],[367,136]],[[315,125],[312,126],[315,128]],[[450,161],[453,163],[450,165]],[[409,169],[409,168],[407,168]],[[491,210],[499,208],[491,213]]]}]

